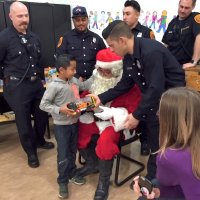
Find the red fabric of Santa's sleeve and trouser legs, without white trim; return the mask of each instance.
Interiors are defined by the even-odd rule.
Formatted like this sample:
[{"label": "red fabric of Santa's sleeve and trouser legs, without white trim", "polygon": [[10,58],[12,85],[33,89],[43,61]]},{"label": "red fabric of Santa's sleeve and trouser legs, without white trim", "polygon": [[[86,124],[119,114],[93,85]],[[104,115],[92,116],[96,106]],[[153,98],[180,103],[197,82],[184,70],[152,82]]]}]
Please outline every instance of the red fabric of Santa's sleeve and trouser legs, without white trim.
[{"label": "red fabric of Santa's sleeve and trouser legs, without white trim", "polygon": [[[84,93],[84,95],[88,92]],[[83,95],[81,95],[84,97]],[[129,113],[132,113],[138,106],[141,99],[141,92],[137,85],[135,85],[129,92],[123,94],[111,103],[111,107],[124,107]],[[79,136],[78,136],[78,148],[87,148],[92,135],[99,133],[99,129],[95,122],[92,124],[79,123]],[[107,127],[100,135],[97,146],[96,154],[102,160],[110,160],[120,151],[118,143],[120,134],[114,131],[112,126]]]}]

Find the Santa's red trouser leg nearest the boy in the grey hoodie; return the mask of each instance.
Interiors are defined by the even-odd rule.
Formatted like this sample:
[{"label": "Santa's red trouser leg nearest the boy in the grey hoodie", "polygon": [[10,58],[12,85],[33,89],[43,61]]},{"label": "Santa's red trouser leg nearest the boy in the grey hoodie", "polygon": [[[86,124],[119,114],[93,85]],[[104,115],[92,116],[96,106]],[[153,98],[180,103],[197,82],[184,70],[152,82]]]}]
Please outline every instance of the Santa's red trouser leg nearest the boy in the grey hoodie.
[{"label": "Santa's red trouser leg nearest the boy in the grey hoodie", "polygon": [[87,148],[90,143],[91,137],[94,134],[98,134],[99,129],[95,122],[91,124],[83,124],[79,121],[79,131],[78,131],[78,149]]}]

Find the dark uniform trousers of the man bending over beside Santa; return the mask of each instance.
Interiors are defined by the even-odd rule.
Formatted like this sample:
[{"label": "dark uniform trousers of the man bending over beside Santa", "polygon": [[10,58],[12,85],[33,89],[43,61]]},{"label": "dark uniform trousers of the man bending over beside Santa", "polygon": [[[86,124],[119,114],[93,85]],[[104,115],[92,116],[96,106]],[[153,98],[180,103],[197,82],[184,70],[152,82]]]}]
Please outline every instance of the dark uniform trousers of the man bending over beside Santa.
[{"label": "dark uniform trousers of the man bending over beside Santa", "polygon": [[153,179],[156,176],[156,156],[153,154],[159,149],[159,121],[156,114],[151,115],[146,120],[147,137],[151,154],[147,162],[147,178]]}]

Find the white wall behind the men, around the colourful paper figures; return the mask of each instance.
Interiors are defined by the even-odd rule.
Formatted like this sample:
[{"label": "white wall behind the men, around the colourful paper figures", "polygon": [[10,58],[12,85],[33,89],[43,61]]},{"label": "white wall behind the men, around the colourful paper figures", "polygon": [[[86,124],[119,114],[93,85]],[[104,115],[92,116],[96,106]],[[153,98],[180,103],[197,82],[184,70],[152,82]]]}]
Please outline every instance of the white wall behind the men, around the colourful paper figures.
[{"label": "white wall behind the men, around the colourful paper figures", "polygon": [[[90,11],[93,13],[97,11],[97,23],[98,23],[98,29],[96,27],[92,28],[93,22],[94,22],[94,15],[90,18],[90,29],[99,35],[101,35],[101,32],[103,28],[108,24],[105,22],[108,15],[107,12],[111,12],[112,17],[115,19],[116,13],[119,12],[120,19],[122,19],[122,10],[123,10],[123,4],[125,0],[22,0],[22,1],[29,1],[29,2],[41,2],[41,3],[54,3],[54,4],[68,4],[71,5],[71,8],[80,5],[85,6],[87,8],[88,14]],[[171,19],[177,15],[177,9],[178,9],[178,2],[179,0],[138,0],[140,3],[142,12],[140,16],[140,22],[143,23],[146,12],[150,12],[149,20],[148,20],[148,26],[151,24],[151,14],[153,11],[157,11],[158,18],[161,17],[161,13],[163,10],[167,11],[167,24],[171,21]],[[101,11],[105,11],[105,14],[102,15]],[[194,11],[200,11],[200,1],[197,0],[196,7]],[[104,24],[100,27],[100,24]],[[156,28],[153,29],[156,39],[161,40],[163,36],[163,30],[161,30],[159,33],[157,33],[159,28],[159,23],[156,22]]]}]

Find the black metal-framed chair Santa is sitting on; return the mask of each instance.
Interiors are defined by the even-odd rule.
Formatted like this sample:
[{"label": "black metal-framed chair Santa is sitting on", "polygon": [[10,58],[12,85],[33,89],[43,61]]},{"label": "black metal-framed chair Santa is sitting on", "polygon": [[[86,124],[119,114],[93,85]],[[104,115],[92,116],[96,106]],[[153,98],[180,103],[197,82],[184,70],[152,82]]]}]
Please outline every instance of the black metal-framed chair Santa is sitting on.
[{"label": "black metal-framed chair Santa is sitting on", "polygon": [[[115,184],[117,186],[121,186],[124,183],[126,183],[127,181],[129,181],[131,178],[133,178],[134,176],[136,176],[137,174],[139,174],[140,172],[142,172],[145,168],[145,165],[142,162],[139,162],[137,160],[135,160],[134,158],[131,158],[125,154],[122,153],[122,148],[126,145],[129,145],[133,142],[135,142],[136,140],[139,139],[139,134],[135,134],[133,137],[124,140],[124,136],[123,136],[123,132],[120,133],[121,134],[121,138],[120,138],[120,143],[119,143],[119,148],[120,148],[120,153],[116,156],[116,169],[115,169]],[[130,175],[128,175],[127,177],[119,180],[119,175],[120,175],[120,162],[121,162],[121,158],[130,161],[130,163],[137,165],[138,168],[137,170],[135,170],[134,172],[132,172]]]}]

